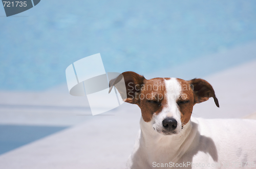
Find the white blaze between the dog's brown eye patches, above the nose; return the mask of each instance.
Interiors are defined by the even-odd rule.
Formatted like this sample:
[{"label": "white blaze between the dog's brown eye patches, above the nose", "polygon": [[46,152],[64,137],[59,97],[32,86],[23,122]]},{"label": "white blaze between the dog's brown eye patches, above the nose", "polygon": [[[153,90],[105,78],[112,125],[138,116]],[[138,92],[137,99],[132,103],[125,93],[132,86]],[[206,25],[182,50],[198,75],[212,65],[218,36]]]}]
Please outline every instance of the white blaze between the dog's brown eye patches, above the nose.
[{"label": "white blaze between the dog's brown eye patches, above the nose", "polygon": [[176,101],[181,95],[181,85],[176,78],[170,78],[169,80],[164,80],[164,82],[166,87],[165,99],[167,100],[167,105],[165,111],[167,111],[167,116],[173,116],[175,119],[180,118],[180,111]]}]

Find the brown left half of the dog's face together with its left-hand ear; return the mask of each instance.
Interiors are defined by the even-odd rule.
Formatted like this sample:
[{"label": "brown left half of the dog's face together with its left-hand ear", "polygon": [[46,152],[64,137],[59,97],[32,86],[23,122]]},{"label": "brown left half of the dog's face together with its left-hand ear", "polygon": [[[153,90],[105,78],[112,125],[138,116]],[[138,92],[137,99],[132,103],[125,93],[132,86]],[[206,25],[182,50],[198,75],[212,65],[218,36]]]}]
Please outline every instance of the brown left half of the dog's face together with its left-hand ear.
[{"label": "brown left half of the dog's face together with its left-hand ear", "polygon": [[[119,75],[120,76],[120,75]],[[120,77],[110,80],[110,91],[118,82]],[[166,104],[164,99],[165,83],[164,79],[169,78],[153,78],[147,80],[135,72],[123,72],[126,91],[118,92],[123,95],[125,92],[127,98],[125,102],[137,104],[141,108],[141,115],[145,122],[150,122],[154,114],[159,114],[162,110],[162,105]]]}]

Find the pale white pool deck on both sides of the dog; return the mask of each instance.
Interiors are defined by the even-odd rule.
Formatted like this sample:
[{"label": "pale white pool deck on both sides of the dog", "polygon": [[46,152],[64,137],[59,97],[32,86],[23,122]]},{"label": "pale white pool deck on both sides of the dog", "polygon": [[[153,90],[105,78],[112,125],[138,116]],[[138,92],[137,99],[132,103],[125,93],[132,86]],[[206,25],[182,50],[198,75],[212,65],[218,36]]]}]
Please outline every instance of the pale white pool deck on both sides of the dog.
[{"label": "pale white pool deck on both sides of the dog", "polygon": [[[213,99],[195,105],[193,116],[256,118],[256,60],[205,76]],[[61,93],[0,93],[0,124],[72,126],[0,156],[0,168],[124,168],[139,129],[140,109],[124,103],[91,116],[86,97]],[[59,92],[57,92],[59,89]]]}]

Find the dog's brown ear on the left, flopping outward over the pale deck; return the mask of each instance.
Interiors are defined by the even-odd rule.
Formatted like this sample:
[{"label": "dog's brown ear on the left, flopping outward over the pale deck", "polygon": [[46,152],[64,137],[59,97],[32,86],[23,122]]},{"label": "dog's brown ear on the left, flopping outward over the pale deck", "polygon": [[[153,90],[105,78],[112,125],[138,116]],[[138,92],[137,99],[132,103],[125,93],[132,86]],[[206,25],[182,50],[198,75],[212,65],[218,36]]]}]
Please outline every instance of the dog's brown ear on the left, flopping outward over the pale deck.
[{"label": "dog's brown ear on the left, flopping outward over the pale deck", "polygon": [[[125,91],[123,88],[119,88],[116,84],[124,78]],[[141,91],[142,85],[145,82],[145,77],[141,76],[135,72],[123,72],[117,78],[110,80],[110,91],[115,85],[116,89],[120,93],[122,99],[127,103],[136,104],[139,101],[139,93]],[[126,95],[124,94],[126,92]],[[126,97],[125,97],[126,96]]]}]

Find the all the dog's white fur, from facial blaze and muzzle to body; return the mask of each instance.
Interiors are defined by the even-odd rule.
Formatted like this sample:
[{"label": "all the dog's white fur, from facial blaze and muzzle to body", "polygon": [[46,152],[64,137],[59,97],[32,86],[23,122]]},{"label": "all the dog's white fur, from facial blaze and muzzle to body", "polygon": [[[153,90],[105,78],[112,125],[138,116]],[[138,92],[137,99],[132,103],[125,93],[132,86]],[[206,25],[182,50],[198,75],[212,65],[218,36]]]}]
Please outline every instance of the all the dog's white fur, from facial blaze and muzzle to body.
[{"label": "all the dog's white fur, from facial blaze and muzzle to body", "polygon": [[[175,97],[167,97],[167,106],[151,122],[141,118],[141,129],[126,168],[172,168],[169,166],[176,163],[185,166],[176,164],[174,168],[256,168],[255,120],[191,118],[181,129],[176,103],[180,84],[175,78],[166,80],[165,84],[166,94]],[[161,130],[165,117],[177,120],[178,134],[164,135],[154,130],[153,127]],[[166,163],[168,167],[157,167]]]}]

